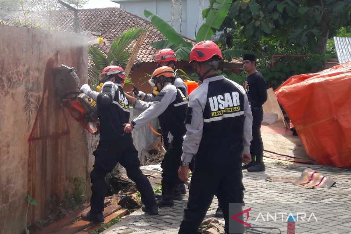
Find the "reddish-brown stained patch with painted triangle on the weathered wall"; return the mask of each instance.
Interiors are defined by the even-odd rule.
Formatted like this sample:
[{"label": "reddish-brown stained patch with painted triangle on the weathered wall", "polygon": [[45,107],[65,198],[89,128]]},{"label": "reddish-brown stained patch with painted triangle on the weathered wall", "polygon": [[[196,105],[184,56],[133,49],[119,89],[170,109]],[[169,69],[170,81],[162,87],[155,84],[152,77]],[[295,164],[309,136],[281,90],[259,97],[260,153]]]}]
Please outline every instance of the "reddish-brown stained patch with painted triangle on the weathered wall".
[{"label": "reddish-brown stained patch with painted triangle on the weathered wall", "polygon": [[[65,111],[58,105],[54,96],[53,69],[55,59],[47,61],[44,73],[43,93],[31,133],[28,137],[28,194],[32,195],[39,203],[39,207],[30,209],[29,223],[39,216],[47,215],[48,198],[52,194],[59,194],[62,187],[61,168],[62,160],[66,161],[69,148],[69,126]],[[61,126],[59,116],[64,118]],[[61,115],[61,116],[62,116]],[[68,137],[62,139],[62,136]],[[37,142],[37,143],[34,143]],[[37,213],[38,214],[38,213]]]}]

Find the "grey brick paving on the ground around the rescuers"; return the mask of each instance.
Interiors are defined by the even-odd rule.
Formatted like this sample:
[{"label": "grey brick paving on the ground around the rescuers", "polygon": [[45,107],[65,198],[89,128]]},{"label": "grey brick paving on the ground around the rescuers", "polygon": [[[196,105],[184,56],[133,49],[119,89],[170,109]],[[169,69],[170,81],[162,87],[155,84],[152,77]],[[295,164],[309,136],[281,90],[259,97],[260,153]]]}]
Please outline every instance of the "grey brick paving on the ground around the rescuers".
[{"label": "grey brick paving on the ground around the rescuers", "polygon": [[[277,214],[276,221],[272,221],[275,219],[275,213],[292,212],[296,215],[296,212],[305,212],[305,222],[302,220],[296,222],[296,233],[351,233],[351,170],[320,165],[285,164],[267,158],[265,162],[265,173],[244,171],[246,188],[244,200],[246,208],[251,207],[247,222],[252,227],[277,227],[282,233],[286,233],[287,215],[283,214],[283,222],[282,214]],[[299,176],[307,167],[335,179],[337,185],[333,188],[305,189],[291,183],[273,183],[265,180],[271,176]],[[186,202],[187,196],[183,201],[176,201],[174,207],[161,209],[159,216],[146,215],[138,210],[105,230],[103,234],[176,234],[183,219]],[[215,198],[206,218],[214,216],[217,206],[218,200]],[[267,213],[271,215],[268,216],[270,220],[268,222]],[[318,222],[313,216],[308,221],[311,213]],[[301,215],[303,217],[303,214]],[[223,222],[223,219],[220,221]],[[245,233],[249,231],[250,229]],[[267,229],[265,232],[277,233],[273,229]]]}]

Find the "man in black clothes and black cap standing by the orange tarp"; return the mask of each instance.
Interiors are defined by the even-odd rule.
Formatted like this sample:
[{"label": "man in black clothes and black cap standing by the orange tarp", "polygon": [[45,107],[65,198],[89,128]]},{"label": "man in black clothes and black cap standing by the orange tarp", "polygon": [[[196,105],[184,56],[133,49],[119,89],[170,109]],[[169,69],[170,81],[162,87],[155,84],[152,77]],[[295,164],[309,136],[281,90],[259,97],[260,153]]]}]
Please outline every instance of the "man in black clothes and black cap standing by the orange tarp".
[{"label": "man in black clothes and black cap standing by the orange tarp", "polygon": [[248,172],[265,171],[263,162],[263,141],[261,138],[261,123],[263,120],[262,105],[267,100],[267,86],[263,75],[256,69],[256,56],[245,54],[243,56],[244,69],[249,74],[243,86],[249,96],[252,111],[252,141],[250,146],[251,162],[243,165]]}]

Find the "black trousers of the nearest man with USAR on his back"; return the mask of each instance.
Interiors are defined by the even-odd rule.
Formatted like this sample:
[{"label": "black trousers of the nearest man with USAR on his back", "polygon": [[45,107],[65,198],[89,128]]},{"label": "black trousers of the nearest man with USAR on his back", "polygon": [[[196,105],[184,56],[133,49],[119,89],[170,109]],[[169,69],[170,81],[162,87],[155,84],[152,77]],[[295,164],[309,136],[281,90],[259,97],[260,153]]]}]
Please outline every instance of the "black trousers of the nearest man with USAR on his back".
[{"label": "black trousers of the nearest man with USAR on his back", "polygon": [[[230,145],[230,142],[227,142]],[[227,145],[224,144],[224,145]],[[194,171],[189,189],[189,199],[180,224],[180,234],[197,233],[214,194],[223,208],[225,232],[229,232],[229,203],[243,203],[244,186],[241,171],[241,152],[230,147],[213,147],[216,142],[200,146],[196,155]],[[227,146],[228,146],[227,145]],[[236,152],[236,153],[235,153]],[[243,226],[240,226],[243,232]],[[240,233],[238,232],[238,233]]]}]

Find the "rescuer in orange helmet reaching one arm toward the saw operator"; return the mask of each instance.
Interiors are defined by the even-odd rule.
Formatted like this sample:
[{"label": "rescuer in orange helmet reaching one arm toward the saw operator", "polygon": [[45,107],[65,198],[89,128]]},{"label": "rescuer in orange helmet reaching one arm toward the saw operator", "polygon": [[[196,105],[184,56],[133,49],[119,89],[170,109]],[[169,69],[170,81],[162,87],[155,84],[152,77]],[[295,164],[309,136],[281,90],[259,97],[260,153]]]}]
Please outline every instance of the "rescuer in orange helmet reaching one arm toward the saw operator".
[{"label": "rescuer in orange helmet reaching one arm toward the saw operator", "polygon": [[[161,163],[162,197],[157,201],[159,207],[174,205],[173,190],[181,181],[178,178],[183,136],[185,135],[185,111],[188,106],[185,95],[173,85],[175,74],[171,67],[163,66],[152,73],[151,78],[159,94],[152,102],[144,102],[126,95],[135,109],[145,110],[137,118],[127,123],[124,131],[139,130],[152,119],[158,117],[161,129],[169,129],[172,141]],[[180,195],[181,196],[181,195]]]}]

